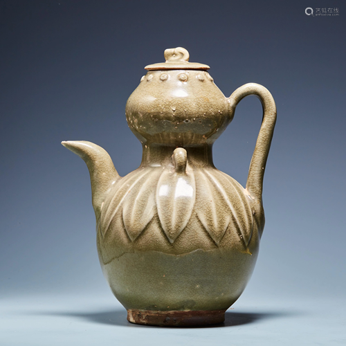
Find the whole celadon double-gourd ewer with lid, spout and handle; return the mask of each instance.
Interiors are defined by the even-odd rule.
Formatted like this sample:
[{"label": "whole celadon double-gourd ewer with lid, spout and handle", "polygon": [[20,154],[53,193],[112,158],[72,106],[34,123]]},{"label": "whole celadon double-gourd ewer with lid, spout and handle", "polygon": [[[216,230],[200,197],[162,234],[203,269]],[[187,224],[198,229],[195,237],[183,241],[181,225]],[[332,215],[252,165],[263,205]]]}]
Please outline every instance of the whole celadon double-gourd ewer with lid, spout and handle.
[{"label": "whole celadon double-gourd ewer with lid, spout and handle", "polygon": [[[120,177],[109,154],[90,142],[62,145],[89,168],[104,276],[142,325],[212,325],[251,277],[264,228],[262,183],[275,126],[269,91],[249,83],[229,98],[184,48],[146,66],[126,104],[143,145],[140,167]],[[212,144],[247,95],[263,120],[246,188],[212,162]]]}]

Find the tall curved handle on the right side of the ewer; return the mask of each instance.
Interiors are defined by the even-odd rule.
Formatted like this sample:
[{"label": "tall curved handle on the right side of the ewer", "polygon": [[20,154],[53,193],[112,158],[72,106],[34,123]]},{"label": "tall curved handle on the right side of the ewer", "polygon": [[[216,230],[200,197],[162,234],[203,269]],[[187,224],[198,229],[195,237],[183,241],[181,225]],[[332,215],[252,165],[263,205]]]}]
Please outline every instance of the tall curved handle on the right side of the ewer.
[{"label": "tall curved handle on the right side of the ewer", "polygon": [[248,170],[246,190],[248,190],[251,197],[261,201],[266,159],[268,158],[269,149],[271,148],[271,138],[273,138],[276,122],[276,106],[273,96],[268,89],[260,84],[248,83],[240,86],[228,98],[233,113],[239,101],[248,95],[256,95],[260,98],[263,107],[263,118],[260,134],[258,134],[255,150]]}]

